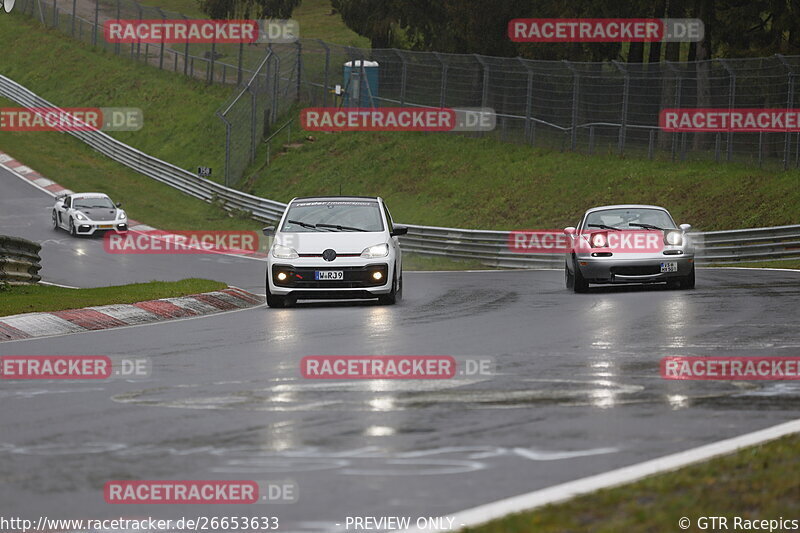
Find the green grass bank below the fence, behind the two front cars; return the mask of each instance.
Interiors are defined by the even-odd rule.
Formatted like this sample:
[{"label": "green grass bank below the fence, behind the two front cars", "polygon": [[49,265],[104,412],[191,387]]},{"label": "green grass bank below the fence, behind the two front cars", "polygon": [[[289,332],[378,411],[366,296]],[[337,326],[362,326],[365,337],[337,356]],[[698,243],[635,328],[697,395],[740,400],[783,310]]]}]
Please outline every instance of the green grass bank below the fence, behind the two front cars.
[{"label": "green grass bank below the fence, behind the two front cars", "polygon": [[298,132],[295,140],[259,173],[255,194],[375,194],[400,222],[483,229],[562,228],[588,207],[616,203],[662,205],[698,230],[800,219],[795,170],[588,156],[435,133]]}]

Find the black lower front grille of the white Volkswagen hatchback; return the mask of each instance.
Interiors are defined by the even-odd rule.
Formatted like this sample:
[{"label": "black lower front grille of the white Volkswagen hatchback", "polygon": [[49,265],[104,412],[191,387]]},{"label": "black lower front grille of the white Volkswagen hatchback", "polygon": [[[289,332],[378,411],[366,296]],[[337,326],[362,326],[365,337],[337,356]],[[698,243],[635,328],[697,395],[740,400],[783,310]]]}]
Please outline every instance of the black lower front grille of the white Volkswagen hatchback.
[{"label": "black lower front grille of the white Volkswagen hatchback", "polygon": [[[343,280],[316,280],[315,272],[341,270]],[[278,280],[278,274],[283,272],[286,279]],[[373,274],[381,273],[381,279],[375,280]],[[386,285],[389,266],[385,263],[366,265],[363,267],[292,267],[288,265],[272,266],[272,282],[278,287],[291,287],[296,289],[358,289],[363,287],[380,287]]]}]

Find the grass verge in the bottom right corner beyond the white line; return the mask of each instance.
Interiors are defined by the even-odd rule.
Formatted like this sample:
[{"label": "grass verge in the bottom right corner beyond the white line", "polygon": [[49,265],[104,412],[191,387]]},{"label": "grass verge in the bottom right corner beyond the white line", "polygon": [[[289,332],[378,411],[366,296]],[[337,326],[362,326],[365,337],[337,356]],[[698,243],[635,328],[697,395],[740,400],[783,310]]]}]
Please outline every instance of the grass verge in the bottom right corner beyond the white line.
[{"label": "grass verge in the bottom right corner beyond the white line", "polygon": [[[601,490],[568,502],[510,515],[465,533],[681,531],[678,520],[697,518],[796,519],[800,436],[745,448],[675,472]],[[713,529],[713,528],[710,528]],[[747,527],[741,530],[755,530]]]}]

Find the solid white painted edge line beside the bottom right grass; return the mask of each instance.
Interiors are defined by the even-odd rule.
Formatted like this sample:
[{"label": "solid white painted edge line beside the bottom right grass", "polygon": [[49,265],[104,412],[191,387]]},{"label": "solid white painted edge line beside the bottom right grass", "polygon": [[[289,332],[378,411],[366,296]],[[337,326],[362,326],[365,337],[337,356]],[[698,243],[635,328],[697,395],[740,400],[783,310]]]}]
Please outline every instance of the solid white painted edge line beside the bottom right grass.
[{"label": "solid white painted edge line beside the bottom right grass", "polygon": [[[493,503],[473,507],[450,515],[447,518],[454,518],[453,526],[460,528],[474,527],[484,524],[506,515],[531,511],[552,503],[559,503],[576,496],[588,494],[600,489],[607,489],[624,485],[640,479],[661,474],[672,470],[677,470],[701,461],[707,461],[714,457],[733,453],[741,448],[762,444],[767,441],[775,440],[786,435],[800,432],[800,419],[785,422],[745,435],[730,439],[713,442],[692,448],[683,452],[666,455],[657,459],[651,459],[631,466],[611,470],[603,474],[569,481],[560,485],[540,489],[527,494],[521,494]],[[446,520],[441,523],[448,523]],[[418,529],[411,528],[402,532],[394,533],[419,533],[422,531],[452,531],[449,529]]]}]

